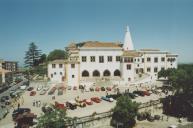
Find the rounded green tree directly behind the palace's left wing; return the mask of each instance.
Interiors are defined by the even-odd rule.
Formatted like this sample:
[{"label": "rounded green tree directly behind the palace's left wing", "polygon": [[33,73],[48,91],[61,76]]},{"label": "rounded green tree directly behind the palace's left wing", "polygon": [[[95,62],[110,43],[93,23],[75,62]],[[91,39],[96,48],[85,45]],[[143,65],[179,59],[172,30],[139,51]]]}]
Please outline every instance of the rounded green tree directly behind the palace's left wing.
[{"label": "rounded green tree directly behind the palace's left wing", "polygon": [[56,59],[67,59],[67,58],[68,58],[68,53],[66,51],[55,49],[54,51],[49,53],[47,60],[52,61]]}]

